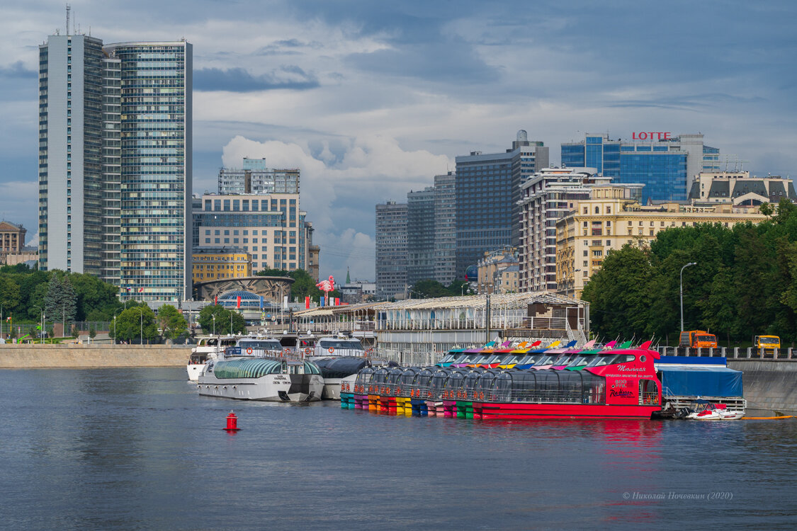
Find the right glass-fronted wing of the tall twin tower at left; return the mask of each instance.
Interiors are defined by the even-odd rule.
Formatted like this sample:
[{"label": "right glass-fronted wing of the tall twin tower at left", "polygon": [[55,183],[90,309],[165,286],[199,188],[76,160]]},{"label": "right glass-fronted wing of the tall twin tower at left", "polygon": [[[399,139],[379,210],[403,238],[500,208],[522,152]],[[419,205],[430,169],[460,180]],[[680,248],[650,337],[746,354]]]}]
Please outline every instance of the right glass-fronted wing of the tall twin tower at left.
[{"label": "right glass-fronted wing of the tall twin tower at left", "polygon": [[104,52],[121,82],[122,296],[190,299],[192,47],[125,42]]}]

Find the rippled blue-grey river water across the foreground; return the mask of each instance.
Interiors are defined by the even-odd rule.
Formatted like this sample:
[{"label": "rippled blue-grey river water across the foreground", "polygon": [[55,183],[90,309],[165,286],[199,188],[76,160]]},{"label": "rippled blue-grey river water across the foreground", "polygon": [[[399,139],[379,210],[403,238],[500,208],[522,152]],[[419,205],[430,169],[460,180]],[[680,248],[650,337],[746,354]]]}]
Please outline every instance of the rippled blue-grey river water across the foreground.
[{"label": "rippled blue-grey river water across the foreground", "polygon": [[797,526],[792,420],[378,416],[200,397],[184,369],[0,381],[3,529]]}]

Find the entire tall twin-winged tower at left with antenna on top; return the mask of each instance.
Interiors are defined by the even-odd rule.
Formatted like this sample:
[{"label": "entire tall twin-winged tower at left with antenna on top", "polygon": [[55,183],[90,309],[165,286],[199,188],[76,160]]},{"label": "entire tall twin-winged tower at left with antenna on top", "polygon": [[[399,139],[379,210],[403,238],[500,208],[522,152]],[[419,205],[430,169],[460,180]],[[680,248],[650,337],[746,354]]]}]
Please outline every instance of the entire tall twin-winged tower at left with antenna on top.
[{"label": "entire tall twin-winged tower at left with antenna on top", "polygon": [[39,47],[41,269],[190,299],[191,55],[69,34]]}]

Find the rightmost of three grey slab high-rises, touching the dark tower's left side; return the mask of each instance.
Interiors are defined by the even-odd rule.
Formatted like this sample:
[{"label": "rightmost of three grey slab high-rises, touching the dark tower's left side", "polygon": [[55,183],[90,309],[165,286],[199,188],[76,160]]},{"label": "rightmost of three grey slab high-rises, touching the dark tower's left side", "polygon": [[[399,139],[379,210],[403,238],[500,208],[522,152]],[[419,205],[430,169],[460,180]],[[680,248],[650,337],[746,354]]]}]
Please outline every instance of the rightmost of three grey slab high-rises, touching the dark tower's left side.
[{"label": "rightmost of three grey slab high-rises, touching the dark tower's left side", "polygon": [[434,176],[434,279],[449,286],[456,279],[457,174]]}]

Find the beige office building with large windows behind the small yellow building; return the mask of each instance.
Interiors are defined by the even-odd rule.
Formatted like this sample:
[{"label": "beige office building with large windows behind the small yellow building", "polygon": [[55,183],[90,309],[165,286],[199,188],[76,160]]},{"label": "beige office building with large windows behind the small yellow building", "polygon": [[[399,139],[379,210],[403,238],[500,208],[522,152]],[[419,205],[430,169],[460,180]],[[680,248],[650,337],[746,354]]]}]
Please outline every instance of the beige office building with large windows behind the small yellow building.
[{"label": "beige office building with large windows behind the small yellow building", "polygon": [[[308,268],[312,225],[299,209],[298,193],[205,194],[194,209],[194,246],[231,246],[248,252],[252,272]],[[317,260],[317,259],[316,259]]]}]

